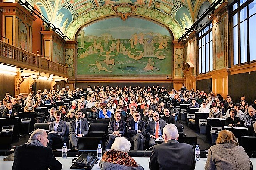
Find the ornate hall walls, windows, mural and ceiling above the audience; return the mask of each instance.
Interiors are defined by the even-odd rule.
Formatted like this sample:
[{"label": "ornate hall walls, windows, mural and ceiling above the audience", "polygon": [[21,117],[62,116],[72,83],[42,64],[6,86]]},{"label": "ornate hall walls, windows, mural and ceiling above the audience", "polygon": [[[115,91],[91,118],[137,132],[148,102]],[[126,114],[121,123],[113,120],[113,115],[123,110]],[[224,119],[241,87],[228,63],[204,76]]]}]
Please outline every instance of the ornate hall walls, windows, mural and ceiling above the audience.
[{"label": "ornate hall walls, windows, mural and ceiling above the audience", "polygon": [[0,0],[0,100],[184,84],[254,104],[255,26],[256,0]]}]

